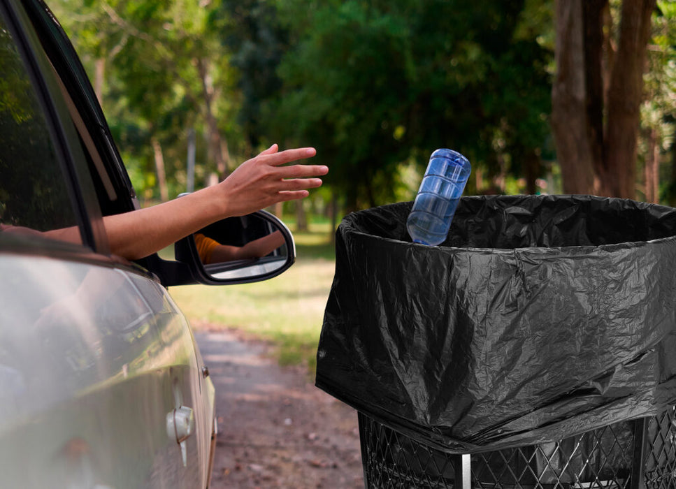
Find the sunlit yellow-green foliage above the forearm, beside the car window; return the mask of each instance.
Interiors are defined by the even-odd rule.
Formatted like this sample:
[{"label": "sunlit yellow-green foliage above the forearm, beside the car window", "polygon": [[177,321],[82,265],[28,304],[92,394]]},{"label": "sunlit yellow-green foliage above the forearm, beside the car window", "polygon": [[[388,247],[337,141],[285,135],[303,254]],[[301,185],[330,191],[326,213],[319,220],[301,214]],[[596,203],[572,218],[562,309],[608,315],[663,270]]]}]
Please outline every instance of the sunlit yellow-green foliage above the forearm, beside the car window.
[{"label": "sunlit yellow-green foliage above the forearm, beside the car window", "polygon": [[90,78],[96,79],[97,64],[105,66],[102,105],[134,183],[141,184],[136,190],[157,196],[151,137],[161,143],[171,195],[185,191],[189,129],[201,136],[198,177],[215,171],[206,141],[207,91],[220,132],[238,133],[232,68],[214,18],[220,1],[55,0],[52,8]]}]

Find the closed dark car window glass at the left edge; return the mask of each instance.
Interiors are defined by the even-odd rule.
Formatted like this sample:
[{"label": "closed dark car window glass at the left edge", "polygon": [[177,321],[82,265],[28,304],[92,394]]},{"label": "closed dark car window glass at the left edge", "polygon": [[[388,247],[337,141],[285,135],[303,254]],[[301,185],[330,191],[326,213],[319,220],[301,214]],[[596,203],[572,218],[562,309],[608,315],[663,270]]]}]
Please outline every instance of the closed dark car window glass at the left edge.
[{"label": "closed dark car window glass at the left edge", "polygon": [[1,17],[0,73],[0,229],[77,226],[43,108]]}]

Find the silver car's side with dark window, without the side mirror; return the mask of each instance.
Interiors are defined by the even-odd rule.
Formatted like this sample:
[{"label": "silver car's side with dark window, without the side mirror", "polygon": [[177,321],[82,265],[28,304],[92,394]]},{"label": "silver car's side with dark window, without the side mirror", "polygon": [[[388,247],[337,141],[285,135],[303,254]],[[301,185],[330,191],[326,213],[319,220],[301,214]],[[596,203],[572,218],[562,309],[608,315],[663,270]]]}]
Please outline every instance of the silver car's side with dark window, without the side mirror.
[{"label": "silver car's side with dark window, without the side mirror", "polygon": [[0,0],[0,486],[206,487],[213,385],[157,277],[108,254],[131,186],[50,29]]}]

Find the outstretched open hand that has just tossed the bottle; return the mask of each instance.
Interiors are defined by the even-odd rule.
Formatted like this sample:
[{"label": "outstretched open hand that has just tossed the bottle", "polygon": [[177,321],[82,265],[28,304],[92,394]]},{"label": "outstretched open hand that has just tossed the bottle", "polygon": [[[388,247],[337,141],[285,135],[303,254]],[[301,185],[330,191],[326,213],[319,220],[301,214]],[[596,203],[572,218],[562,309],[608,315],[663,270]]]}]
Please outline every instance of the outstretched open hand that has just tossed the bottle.
[{"label": "outstretched open hand that has just tossed the bottle", "polygon": [[280,152],[277,145],[272,145],[242,163],[219,184],[226,199],[226,215],[243,216],[278,202],[307,197],[307,189],[320,187],[322,180],[317,177],[326,175],[329,168],[282,165],[311,158],[316,153],[311,147]]}]

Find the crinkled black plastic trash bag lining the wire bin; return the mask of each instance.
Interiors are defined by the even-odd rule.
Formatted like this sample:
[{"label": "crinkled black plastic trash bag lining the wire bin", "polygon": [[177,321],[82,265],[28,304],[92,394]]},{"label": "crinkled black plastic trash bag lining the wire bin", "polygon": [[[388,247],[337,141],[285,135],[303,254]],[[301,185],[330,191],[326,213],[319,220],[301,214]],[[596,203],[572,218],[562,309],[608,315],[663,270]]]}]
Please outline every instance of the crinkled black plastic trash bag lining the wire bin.
[{"label": "crinkled black plastic trash bag lining the wire bin", "polygon": [[676,209],[463,197],[439,247],[411,203],[355,212],[316,384],[447,453],[546,443],[676,402]]}]

